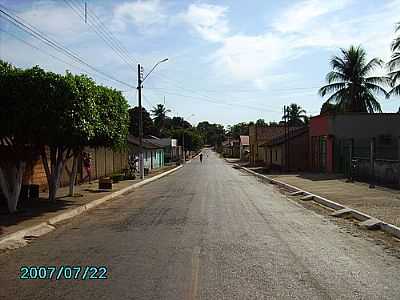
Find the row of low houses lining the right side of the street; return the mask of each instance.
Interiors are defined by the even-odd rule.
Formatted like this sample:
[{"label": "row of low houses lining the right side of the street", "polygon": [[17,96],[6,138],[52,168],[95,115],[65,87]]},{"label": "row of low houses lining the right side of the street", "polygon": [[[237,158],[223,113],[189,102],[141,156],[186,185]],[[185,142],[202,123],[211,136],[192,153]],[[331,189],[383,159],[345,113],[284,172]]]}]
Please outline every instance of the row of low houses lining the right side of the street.
[{"label": "row of low houses lining the right side of the street", "polygon": [[398,113],[323,114],[302,127],[251,125],[248,140],[248,161],[253,166],[352,173],[360,179],[400,185]]}]

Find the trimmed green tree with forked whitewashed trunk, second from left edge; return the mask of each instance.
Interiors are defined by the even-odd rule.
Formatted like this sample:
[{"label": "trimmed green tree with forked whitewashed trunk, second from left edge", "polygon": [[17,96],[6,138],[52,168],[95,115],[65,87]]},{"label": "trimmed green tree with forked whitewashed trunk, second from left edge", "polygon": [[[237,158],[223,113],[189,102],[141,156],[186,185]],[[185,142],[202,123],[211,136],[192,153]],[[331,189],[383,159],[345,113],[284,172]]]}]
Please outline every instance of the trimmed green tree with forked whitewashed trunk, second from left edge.
[{"label": "trimmed green tree with forked whitewashed trunk, second from left edge", "polygon": [[[2,66],[2,74],[10,69]],[[1,98],[9,102],[2,101],[1,113],[18,112],[24,119],[15,117],[1,135],[10,140],[23,132],[25,145],[40,151],[49,199],[55,200],[66,160],[87,145],[120,147],[126,141],[127,102],[121,93],[83,75],[63,76],[36,66],[13,71],[13,76],[2,90]],[[22,156],[17,160],[23,161]]]}]

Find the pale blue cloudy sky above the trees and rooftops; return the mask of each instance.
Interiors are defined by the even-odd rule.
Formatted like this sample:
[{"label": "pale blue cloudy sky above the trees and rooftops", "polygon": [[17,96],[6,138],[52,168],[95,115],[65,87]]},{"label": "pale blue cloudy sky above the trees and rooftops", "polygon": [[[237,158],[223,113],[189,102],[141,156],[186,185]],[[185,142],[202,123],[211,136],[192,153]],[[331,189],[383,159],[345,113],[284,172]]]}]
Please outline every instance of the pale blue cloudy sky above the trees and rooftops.
[{"label": "pale blue cloudy sky above the trees and rooftops", "polygon": [[[143,105],[149,110],[165,104],[171,117],[178,115],[193,124],[279,121],[283,106],[290,103],[317,115],[324,102],[318,89],[325,84],[332,56],[354,44],[364,47],[368,59],[388,61],[395,24],[400,22],[400,0],[0,0],[0,4],[102,73],[74,63],[4,18],[0,18],[1,59],[18,67],[86,73],[123,91],[135,106],[137,64],[147,74],[156,62],[168,58],[145,80]],[[112,47],[107,43],[110,36]],[[397,112],[400,99],[380,97],[380,103],[384,112]]]}]

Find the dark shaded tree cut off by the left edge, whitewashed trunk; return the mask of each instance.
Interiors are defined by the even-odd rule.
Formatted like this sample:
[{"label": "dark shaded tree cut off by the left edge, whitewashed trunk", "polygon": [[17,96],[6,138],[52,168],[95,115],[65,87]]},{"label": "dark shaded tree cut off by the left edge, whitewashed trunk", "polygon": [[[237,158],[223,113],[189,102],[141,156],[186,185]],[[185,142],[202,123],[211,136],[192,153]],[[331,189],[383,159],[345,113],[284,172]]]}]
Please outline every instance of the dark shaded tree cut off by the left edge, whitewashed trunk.
[{"label": "dark shaded tree cut off by the left edge, whitewashed trunk", "polygon": [[34,144],[40,106],[31,97],[25,70],[0,60],[0,189],[8,210],[17,210],[27,164],[38,158]]}]

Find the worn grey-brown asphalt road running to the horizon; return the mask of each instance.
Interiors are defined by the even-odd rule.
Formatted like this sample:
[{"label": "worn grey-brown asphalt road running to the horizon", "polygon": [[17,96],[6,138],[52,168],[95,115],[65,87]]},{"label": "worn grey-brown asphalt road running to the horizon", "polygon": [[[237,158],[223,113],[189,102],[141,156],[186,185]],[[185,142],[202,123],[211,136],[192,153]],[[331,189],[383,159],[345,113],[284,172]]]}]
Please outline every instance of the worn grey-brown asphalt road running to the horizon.
[{"label": "worn grey-brown asphalt road running to the horizon", "polygon": [[[400,299],[398,258],[208,153],[0,255],[0,298]],[[23,265],[109,278],[20,280]]]}]

